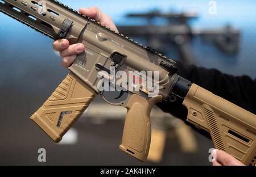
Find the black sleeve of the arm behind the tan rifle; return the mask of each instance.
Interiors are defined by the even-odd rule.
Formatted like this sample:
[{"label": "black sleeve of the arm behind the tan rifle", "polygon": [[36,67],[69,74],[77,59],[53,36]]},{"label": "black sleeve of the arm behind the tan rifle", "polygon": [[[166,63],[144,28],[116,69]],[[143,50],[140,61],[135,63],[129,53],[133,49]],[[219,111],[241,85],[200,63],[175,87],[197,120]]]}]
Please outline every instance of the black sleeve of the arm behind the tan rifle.
[{"label": "black sleeve of the arm behind the tan rifle", "polygon": [[[256,114],[256,79],[253,80],[246,75],[235,77],[223,74],[216,69],[205,69],[181,62],[177,62],[176,66],[177,74],[181,77]],[[158,106],[180,119],[187,119],[187,108],[182,106],[181,100],[175,103],[162,102]]]}]

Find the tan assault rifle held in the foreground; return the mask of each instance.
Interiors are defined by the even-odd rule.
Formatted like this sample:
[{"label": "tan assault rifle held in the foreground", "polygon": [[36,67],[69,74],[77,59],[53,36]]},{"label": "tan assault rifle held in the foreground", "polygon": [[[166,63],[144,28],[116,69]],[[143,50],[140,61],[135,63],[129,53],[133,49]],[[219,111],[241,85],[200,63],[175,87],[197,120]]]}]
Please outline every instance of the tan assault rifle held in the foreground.
[{"label": "tan assault rifle held in the foreground", "polygon": [[[256,116],[181,78],[171,59],[57,1],[0,0],[0,11],[54,40],[65,38],[71,44],[85,45],[85,52],[77,56],[69,68],[71,73],[31,116],[55,142],[61,140],[96,95],[101,94],[106,100],[104,91],[98,87],[105,78],[110,85],[123,88],[120,96],[127,93],[126,99],[119,103],[106,100],[127,108],[119,146],[126,153],[146,161],[151,141],[151,108],[162,100],[183,99],[188,109],[187,121],[209,132],[217,149],[232,154],[246,165],[255,164]],[[113,83],[112,67],[127,75],[129,71],[158,71],[158,79],[155,80],[154,72],[151,77],[134,74],[132,81]],[[148,86],[144,81],[154,84]],[[125,90],[130,87],[137,89]],[[158,94],[151,97],[155,92]]]}]

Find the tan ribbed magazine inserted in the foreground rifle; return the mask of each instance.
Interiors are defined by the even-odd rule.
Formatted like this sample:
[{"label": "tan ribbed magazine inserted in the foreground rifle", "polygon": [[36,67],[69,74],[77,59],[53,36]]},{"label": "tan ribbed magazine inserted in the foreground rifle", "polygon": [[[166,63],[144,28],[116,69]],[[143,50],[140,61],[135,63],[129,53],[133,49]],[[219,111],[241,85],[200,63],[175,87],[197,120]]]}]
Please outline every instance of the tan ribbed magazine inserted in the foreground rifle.
[{"label": "tan ribbed magazine inserted in the foreground rifle", "polygon": [[68,74],[31,119],[53,141],[59,142],[95,96],[96,92],[88,85],[72,73]]}]

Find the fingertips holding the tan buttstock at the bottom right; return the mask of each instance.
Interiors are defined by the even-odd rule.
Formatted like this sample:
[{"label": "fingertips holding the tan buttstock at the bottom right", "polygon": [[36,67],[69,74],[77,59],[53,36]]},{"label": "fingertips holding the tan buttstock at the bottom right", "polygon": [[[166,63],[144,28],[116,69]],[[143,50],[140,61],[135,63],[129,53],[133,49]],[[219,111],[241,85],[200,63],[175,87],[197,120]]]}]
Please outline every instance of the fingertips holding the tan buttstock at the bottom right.
[{"label": "fingertips holding the tan buttstock at the bottom right", "polygon": [[234,165],[243,166],[243,163],[238,161],[232,155],[229,155],[228,153],[225,153],[224,151],[221,151],[221,150],[216,150],[216,158],[217,158],[217,162],[225,166],[234,166]]}]

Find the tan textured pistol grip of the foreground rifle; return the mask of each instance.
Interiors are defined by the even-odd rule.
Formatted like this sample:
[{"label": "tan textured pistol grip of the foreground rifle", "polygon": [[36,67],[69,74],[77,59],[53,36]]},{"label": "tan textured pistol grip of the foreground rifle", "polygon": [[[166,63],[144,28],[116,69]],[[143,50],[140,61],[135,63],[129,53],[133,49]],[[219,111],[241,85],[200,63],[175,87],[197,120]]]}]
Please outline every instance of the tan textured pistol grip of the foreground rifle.
[{"label": "tan textured pistol grip of the foreground rifle", "polygon": [[162,101],[162,96],[155,96],[146,100],[134,94],[126,107],[128,111],[123,129],[122,144],[119,148],[141,161],[146,161],[150,148],[150,112],[155,103],[160,101]]}]

